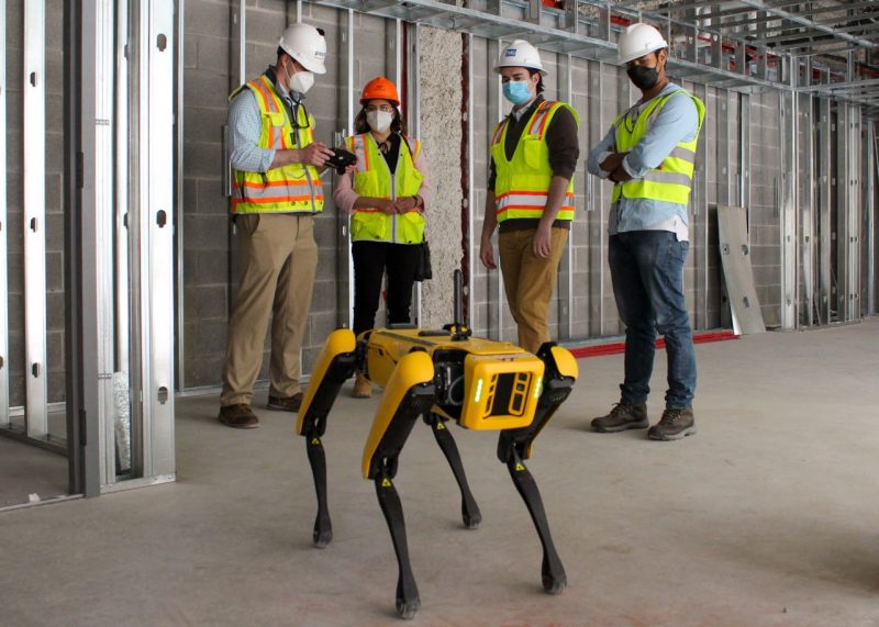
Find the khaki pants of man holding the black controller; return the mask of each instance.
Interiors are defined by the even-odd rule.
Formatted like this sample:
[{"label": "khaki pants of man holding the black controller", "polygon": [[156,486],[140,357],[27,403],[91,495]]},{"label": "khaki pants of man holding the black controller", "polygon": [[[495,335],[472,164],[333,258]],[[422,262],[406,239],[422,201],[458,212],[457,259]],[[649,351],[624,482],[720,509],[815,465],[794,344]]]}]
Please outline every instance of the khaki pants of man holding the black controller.
[{"label": "khaki pants of man holding the black controller", "polygon": [[300,351],[318,267],[314,219],[310,214],[245,214],[238,232],[241,284],[229,321],[223,368],[223,406],[251,404],[263,365],[269,317],[269,393],[300,392]]}]

